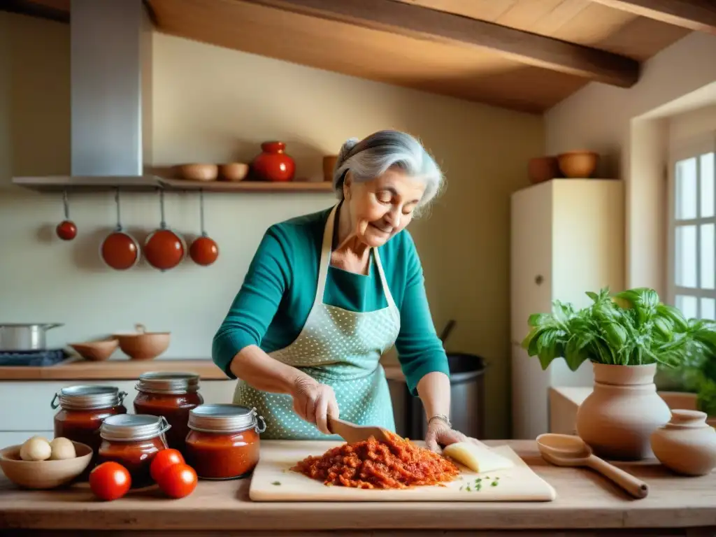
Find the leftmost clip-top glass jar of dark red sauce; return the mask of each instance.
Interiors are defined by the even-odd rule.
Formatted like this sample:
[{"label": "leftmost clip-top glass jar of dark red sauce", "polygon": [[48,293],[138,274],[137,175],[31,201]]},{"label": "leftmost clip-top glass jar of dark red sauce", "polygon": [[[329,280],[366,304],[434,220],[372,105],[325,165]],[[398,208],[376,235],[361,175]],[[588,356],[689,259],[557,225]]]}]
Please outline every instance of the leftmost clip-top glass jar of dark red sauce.
[{"label": "leftmost clip-top glass jar of dark red sauce", "polygon": [[124,399],[127,392],[114,386],[68,386],[59,390],[50,406],[59,407],[54,415],[54,436],[89,445],[97,457],[100,449],[100,426],[110,416],[127,413]]}]

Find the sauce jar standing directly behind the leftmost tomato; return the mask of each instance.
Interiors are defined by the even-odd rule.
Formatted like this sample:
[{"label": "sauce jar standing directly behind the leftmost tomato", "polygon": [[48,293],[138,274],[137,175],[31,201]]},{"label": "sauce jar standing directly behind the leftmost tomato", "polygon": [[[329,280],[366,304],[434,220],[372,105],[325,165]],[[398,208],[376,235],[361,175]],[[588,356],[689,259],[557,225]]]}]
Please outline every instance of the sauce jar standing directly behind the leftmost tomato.
[{"label": "sauce jar standing directly behind the leftmost tomato", "polygon": [[168,448],[165,432],[170,427],[162,416],[110,416],[100,428],[102,443],[97,463],[120,463],[132,476],[132,488],[150,485],[150,465],[157,453]]}]

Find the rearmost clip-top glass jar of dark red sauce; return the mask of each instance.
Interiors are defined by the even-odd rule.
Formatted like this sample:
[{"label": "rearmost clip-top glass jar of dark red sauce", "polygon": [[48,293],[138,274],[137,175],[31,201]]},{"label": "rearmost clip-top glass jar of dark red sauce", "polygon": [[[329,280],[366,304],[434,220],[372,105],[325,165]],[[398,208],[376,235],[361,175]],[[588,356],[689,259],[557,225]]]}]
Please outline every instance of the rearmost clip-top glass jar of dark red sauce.
[{"label": "rearmost clip-top glass jar of dark red sauce", "polygon": [[199,375],[194,373],[142,373],[135,387],[137,414],[164,416],[171,425],[167,433],[170,448],[184,453],[189,411],[204,402],[199,393]]}]

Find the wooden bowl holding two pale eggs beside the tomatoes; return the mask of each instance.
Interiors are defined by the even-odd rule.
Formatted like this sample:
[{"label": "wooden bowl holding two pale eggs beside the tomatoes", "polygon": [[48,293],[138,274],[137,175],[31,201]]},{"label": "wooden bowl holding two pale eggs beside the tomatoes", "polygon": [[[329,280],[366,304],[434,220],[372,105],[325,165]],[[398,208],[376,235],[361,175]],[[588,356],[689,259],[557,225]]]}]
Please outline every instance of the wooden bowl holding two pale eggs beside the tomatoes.
[{"label": "wooden bowl holding two pale eggs beside the tomatoes", "polygon": [[0,468],[15,485],[22,488],[56,488],[72,482],[89,466],[92,448],[74,442],[77,457],[64,460],[21,460],[21,445],[0,450]]}]

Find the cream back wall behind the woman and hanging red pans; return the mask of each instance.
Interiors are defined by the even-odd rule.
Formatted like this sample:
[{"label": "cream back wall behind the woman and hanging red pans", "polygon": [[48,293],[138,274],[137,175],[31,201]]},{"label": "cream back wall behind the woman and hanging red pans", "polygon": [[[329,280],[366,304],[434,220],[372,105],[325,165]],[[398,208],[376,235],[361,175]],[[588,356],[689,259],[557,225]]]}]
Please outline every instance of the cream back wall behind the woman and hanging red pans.
[{"label": "cream back wall behind the woman and hanging red pans", "polygon": [[[0,177],[0,319],[64,321],[50,332],[64,344],[131,329],[168,329],[167,357],[208,357],[266,227],[333,203],[332,195],[207,195],[206,226],[218,241],[215,266],[186,263],[162,274],[147,266],[105,269],[97,247],[115,223],[112,195],[70,198],[79,236],[54,238],[59,195],[9,188],[9,176],[69,171],[67,26],[0,14],[10,56],[0,97],[11,154]],[[153,152],[156,165],[251,158],[281,139],[301,175],[320,175],[321,155],[352,136],[396,128],[418,135],[448,177],[429,217],[411,224],[438,329],[458,321],[448,347],[490,360],[488,432],[509,430],[509,194],[528,184],[526,161],[543,152],[541,117],[427,95],[197,42],[154,36]],[[19,64],[32,69],[19,69]],[[159,223],[155,195],[125,195],[122,219],[144,238]],[[198,200],[169,195],[167,221],[198,233]]]}]

